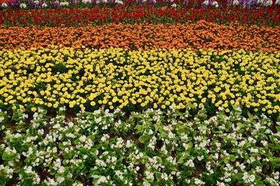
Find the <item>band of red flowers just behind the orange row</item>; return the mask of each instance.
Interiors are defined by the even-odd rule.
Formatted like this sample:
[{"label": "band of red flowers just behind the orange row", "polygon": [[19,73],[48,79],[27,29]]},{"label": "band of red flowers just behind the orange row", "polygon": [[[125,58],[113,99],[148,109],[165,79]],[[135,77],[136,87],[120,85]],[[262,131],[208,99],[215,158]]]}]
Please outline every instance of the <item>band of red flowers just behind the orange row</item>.
[{"label": "band of red flowers just behind the orange row", "polygon": [[279,8],[230,8],[228,10],[207,8],[154,8],[153,6],[121,6],[114,8],[59,9],[59,10],[9,10],[0,12],[0,25],[69,25],[78,23],[103,25],[110,22],[196,22],[207,20],[219,24],[279,26]]}]

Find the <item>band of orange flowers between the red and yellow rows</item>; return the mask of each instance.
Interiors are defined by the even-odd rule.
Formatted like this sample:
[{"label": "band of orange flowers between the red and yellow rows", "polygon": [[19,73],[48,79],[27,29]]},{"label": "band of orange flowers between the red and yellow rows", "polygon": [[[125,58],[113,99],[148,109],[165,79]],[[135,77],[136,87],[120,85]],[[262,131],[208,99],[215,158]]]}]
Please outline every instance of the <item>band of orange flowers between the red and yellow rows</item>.
[{"label": "band of orange flowers between the red and yellow rows", "polygon": [[280,51],[280,27],[218,25],[204,20],[176,25],[147,23],[76,27],[9,27],[0,29],[0,49],[40,48],[198,48],[216,51]]}]

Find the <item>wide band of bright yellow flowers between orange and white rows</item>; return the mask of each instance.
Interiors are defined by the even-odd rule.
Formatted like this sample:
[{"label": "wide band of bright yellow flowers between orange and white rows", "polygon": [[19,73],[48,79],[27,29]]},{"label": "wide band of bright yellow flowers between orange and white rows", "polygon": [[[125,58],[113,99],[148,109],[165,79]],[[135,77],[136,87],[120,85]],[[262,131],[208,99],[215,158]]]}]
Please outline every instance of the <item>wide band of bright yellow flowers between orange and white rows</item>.
[{"label": "wide band of bright yellow flowers between orange and white rows", "polygon": [[31,48],[0,51],[0,107],[238,104],[280,112],[280,53]]}]

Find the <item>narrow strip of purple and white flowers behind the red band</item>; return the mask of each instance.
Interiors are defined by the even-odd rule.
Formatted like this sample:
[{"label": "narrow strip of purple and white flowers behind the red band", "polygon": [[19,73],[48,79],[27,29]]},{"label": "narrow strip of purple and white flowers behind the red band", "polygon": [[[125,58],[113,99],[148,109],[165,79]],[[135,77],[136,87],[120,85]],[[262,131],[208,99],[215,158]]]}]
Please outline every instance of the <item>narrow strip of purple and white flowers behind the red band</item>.
[{"label": "narrow strip of purple and white flowers behind the red band", "polygon": [[229,6],[241,8],[275,7],[280,5],[279,0],[1,0],[4,8],[65,8],[92,6],[135,6],[150,5],[155,7],[170,6],[172,8],[228,8]]}]

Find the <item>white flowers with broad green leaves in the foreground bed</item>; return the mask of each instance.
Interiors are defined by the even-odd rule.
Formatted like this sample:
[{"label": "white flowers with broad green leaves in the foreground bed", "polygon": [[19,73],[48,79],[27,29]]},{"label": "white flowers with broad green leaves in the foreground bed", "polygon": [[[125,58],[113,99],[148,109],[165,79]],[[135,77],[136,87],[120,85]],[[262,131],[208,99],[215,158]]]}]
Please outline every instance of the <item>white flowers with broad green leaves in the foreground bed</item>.
[{"label": "white flowers with broad green leaves in the foreground bed", "polygon": [[[1,185],[279,185],[280,123],[265,115],[98,109],[67,121],[64,112],[13,112]],[[0,116],[3,128],[10,118]]]}]

